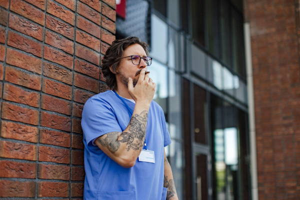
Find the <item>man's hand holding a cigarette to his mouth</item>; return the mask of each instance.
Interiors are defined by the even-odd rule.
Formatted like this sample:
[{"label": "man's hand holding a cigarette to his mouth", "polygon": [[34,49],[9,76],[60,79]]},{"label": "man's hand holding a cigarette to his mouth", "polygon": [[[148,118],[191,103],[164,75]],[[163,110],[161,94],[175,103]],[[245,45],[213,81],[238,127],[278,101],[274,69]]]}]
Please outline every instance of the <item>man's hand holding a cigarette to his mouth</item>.
[{"label": "man's hand holding a cigarette to his mouth", "polygon": [[135,103],[150,105],[154,96],[156,84],[149,78],[149,73],[145,74],[145,71],[145,68],[141,69],[135,87],[133,87],[132,79],[128,79],[128,92]]}]

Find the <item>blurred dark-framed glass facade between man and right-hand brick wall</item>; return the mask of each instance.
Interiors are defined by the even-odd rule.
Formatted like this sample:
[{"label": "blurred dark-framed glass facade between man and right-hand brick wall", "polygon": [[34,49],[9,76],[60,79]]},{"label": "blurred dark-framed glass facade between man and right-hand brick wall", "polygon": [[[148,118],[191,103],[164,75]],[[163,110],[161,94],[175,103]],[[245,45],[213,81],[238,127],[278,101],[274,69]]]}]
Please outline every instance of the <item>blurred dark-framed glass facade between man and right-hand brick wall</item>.
[{"label": "blurred dark-framed glass facade between man and right-hand brick wall", "polygon": [[179,199],[252,199],[243,22],[241,0],[126,0],[117,14],[116,38],[150,44]]}]

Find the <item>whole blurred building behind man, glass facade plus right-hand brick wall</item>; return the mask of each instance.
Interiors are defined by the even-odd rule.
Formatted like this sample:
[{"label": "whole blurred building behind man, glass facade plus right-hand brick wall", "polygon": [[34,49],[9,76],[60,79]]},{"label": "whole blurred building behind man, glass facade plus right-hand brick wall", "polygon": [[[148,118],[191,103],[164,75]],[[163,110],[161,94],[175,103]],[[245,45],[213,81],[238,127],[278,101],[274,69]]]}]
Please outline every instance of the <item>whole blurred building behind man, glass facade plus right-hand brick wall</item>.
[{"label": "whole blurred building behind man, glass facade plus right-hand brick wall", "polygon": [[179,199],[299,199],[298,2],[116,4],[116,38],[149,43]]}]

